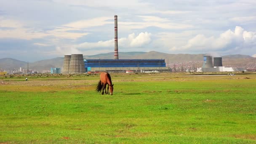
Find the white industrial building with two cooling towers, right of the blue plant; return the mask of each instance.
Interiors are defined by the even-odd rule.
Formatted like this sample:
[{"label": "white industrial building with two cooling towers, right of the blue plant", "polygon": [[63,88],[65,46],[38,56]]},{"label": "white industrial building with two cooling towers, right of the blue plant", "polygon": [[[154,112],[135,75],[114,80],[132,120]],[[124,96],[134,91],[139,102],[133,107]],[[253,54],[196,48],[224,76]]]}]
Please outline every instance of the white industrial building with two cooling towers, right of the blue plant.
[{"label": "white industrial building with two cooling towers, right of the blue plant", "polygon": [[[214,64],[213,64],[214,62]],[[245,68],[235,67],[223,67],[222,58],[214,57],[212,62],[212,56],[203,57],[203,67],[197,68],[197,72],[242,72]]]}]

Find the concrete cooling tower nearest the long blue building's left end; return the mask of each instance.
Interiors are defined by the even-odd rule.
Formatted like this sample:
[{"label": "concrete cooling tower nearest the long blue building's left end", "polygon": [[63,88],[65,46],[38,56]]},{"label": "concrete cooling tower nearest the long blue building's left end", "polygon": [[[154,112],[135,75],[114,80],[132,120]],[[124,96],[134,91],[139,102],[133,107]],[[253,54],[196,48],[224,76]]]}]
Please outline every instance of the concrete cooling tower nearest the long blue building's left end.
[{"label": "concrete cooling tower nearest the long blue building's left end", "polygon": [[69,65],[69,73],[85,73],[83,54],[72,54]]}]

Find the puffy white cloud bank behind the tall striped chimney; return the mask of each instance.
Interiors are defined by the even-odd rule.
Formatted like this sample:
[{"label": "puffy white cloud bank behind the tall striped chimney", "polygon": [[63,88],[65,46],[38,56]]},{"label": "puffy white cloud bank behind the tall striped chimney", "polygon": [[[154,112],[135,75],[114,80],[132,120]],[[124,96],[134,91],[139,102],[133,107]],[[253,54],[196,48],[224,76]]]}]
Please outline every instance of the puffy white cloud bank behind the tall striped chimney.
[{"label": "puffy white cloud bank behind the tall striped chimney", "polygon": [[[118,45],[122,47],[143,47],[144,45],[149,44],[151,40],[151,33],[149,32],[141,32],[139,35],[135,35],[135,33],[132,33],[128,35],[128,37],[122,37],[118,39]],[[77,48],[106,48],[106,47],[112,47],[114,45],[114,39],[107,40],[107,41],[99,41],[96,43],[81,43],[79,45],[76,45]]]}]

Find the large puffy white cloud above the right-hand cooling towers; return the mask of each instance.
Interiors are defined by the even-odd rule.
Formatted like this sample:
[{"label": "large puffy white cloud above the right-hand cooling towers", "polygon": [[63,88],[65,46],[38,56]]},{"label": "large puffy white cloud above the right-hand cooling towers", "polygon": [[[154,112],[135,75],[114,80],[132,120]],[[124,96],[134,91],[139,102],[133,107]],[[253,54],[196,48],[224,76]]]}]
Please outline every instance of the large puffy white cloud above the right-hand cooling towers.
[{"label": "large puffy white cloud above the right-hand cooling towers", "polygon": [[206,37],[203,34],[196,35],[187,41],[186,45],[175,46],[170,51],[217,51],[217,50],[238,50],[243,48],[256,47],[256,32],[245,31],[242,27],[235,27],[235,30],[227,30],[219,37]]}]

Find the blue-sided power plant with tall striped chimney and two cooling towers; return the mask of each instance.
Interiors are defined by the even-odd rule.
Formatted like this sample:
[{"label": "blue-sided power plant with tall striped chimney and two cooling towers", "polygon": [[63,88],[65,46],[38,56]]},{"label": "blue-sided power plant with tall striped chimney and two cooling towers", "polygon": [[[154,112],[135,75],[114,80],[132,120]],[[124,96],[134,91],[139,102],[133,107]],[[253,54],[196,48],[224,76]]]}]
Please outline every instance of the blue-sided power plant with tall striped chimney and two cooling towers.
[{"label": "blue-sided power plant with tall striped chimney and two cooling towers", "polygon": [[115,49],[114,59],[83,59],[82,54],[64,56],[62,73],[85,73],[85,72],[170,72],[166,67],[165,59],[119,59],[117,16],[115,20]]}]

